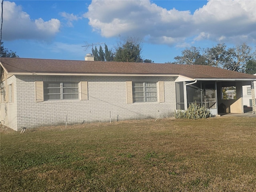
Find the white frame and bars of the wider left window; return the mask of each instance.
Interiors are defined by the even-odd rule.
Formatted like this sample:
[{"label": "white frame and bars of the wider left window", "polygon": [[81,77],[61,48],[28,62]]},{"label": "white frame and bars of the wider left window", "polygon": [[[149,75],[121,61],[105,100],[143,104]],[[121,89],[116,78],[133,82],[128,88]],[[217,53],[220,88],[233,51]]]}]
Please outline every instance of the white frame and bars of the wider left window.
[{"label": "white frame and bars of the wider left window", "polygon": [[[60,84],[60,87],[46,87],[46,84],[48,84],[48,83]],[[76,87],[64,87],[63,86],[64,84],[69,84],[69,83],[75,83],[75,84],[77,84],[77,86]],[[60,92],[59,93],[48,93],[45,91],[48,89],[60,89]],[[65,89],[77,89],[77,92],[64,93]],[[76,96],[76,98],[65,99],[64,96],[69,95],[69,94],[77,95],[77,96]],[[48,95],[59,95],[60,98],[48,99],[48,98],[46,98]],[[47,100],[79,100],[79,82],[44,82],[44,101],[47,101]]]}]

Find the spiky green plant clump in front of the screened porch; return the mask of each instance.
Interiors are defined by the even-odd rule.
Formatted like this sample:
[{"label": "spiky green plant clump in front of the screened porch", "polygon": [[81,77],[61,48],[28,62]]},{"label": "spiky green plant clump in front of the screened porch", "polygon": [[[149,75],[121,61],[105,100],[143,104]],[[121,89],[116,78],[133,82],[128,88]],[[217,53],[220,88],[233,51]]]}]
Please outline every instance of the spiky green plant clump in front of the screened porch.
[{"label": "spiky green plant clump in front of the screened porch", "polygon": [[206,107],[197,105],[196,103],[189,104],[188,110],[176,110],[175,118],[177,119],[200,119],[211,117],[211,113]]}]

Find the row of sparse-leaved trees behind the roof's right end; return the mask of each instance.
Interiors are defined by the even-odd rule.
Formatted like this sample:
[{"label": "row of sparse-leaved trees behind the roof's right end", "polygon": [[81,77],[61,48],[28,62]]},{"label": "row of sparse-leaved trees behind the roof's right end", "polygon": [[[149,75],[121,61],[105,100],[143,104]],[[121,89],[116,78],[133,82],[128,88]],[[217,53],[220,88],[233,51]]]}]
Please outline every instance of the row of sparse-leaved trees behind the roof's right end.
[{"label": "row of sparse-leaved trees behind the roof's right end", "polygon": [[182,56],[176,56],[176,64],[200,64],[245,72],[247,62],[255,58],[256,53],[245,43],[233,48],[226,44],[217,44],[212,48],[201,49],[192,46],[182,51]]}]

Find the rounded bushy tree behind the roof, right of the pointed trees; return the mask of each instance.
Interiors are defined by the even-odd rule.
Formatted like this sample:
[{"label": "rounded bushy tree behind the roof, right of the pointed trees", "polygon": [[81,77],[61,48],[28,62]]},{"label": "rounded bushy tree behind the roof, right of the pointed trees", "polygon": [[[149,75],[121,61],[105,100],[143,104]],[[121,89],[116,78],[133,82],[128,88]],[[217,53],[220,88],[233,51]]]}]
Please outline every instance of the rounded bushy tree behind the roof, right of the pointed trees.
[{"label": "rounded bushy tree behind the roof, right of the pointed trees", "polygon": [[136,38],[120,38],[115,49],[114,61],[143,62],[143,59],[140,56],[142,50],[141,42]]}]

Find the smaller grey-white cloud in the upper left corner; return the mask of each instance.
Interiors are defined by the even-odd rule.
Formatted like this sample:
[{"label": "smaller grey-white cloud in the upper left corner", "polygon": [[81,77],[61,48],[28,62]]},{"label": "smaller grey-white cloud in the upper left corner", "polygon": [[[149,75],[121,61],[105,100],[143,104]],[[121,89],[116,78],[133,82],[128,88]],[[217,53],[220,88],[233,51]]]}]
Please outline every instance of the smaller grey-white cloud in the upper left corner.
[{"label": "smaller grey-white cloud in the upper left corner", "polygon": [[22,7],[17,6],[14,2],[4,1],[3,9],[3,40],[48,40],[60,30],[58,19],[44,21],[42,18],[38,18],[31,20],[30,16],[22,11]]}]

